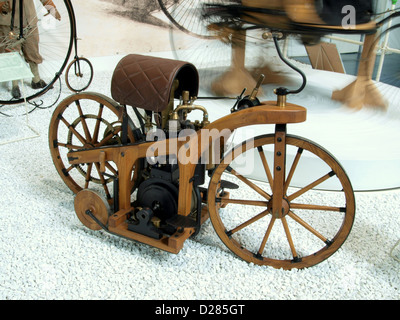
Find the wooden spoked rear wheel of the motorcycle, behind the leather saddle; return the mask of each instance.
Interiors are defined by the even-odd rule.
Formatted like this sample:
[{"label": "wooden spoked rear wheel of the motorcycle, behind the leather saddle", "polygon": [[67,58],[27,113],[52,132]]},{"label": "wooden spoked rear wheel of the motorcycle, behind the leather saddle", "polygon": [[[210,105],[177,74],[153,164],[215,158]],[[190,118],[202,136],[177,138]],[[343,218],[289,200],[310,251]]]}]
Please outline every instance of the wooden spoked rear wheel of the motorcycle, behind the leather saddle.
[{"label": "wooden spoked rear wheel of the motorcycle, behind the leather saddle", "polygon": [[[49,128],[51,156],[59,175],[74,192],[93,189],[105,194],[111,204],[117,167],[106,162],[105,173],[100,163],[70,165],[68,152],[121,144],[123,108],[114,100],[98,93],[79,93],[63,100],[54,110]],[[134,142],[135,127],[128,121],[128,142]],[[132,188],[136,180],[132,168]]]}]

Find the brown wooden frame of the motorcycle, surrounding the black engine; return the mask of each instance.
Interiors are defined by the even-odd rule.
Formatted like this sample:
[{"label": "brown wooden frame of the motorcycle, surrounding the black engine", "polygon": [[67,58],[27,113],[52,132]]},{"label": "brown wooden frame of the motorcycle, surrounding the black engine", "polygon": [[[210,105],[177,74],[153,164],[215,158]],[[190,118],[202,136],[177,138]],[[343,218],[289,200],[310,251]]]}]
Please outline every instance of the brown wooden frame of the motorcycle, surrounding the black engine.
[{"label": "brown wooden frame of the motorcycle, surrounding the black engine", "polygon": [[[192,197],[192,177],[196,164],[200,156],[209,150],[210,145],[219,137],[211,137],[211,141],[202,140],[202,130],[219,130],[229,129],[231,131],[240,127],[251,124],[282,124],[299,123],[306,120],[306,109],[301,106],[287,104],[285,107],[277,106],[275,101],[263,102],[260,106],[244,109],[236,113],[227,115],[213,123],[210,123],[205,128],[196,133],[196,137],[189,137],[189,142],[179,141],[177,138],[172,139],[166,143],[166,146],[177,146],[177,148],[170,149],[161,148],[165,141],[157,142],[143,142],[130,145],[118,145],[109,147],[93,148],[88,150],[73,151],[68,154],[68,159],[71,165],[78,165],[83,163],[100,163],[101,170],[104,169],[106,161],[112,161],[116,164],[118,169],[118,184],[119,184],[119,211],[111,215],[107,222],[108,231],[120,236],[130,238],[139,242],[149,244],[159,249],[178,253],[184,241],[194,233],[194,228],[178,229],[177,232],[171,237],[162,237],[161,239],[153,239],[132,231],[129,231],[125,220],[129,217],[131,206],[131,174],[135,163],[139,159],[146,158],[148,150],[155,152],[156,156],[162,155],[179,155],[179,153],[186,152],[187,149],[197,149],[198,152],[191,154],[188,164],[179,163],[180,187],[178,198],[178,214],[187,216],[190,213],[191,197]],[[279,139],[285,136],[286,132],[279,132]],[[284,143],[280,143],[284,146]],[[162,150],[162,151],[161,151]],[[284,152],[282,150],[282,152]],[[197,159],[195,158],[197,155]],[[178,157],[179,159],[179,157]],[[282,161],[284,157],[279,157]],[[283,166],[283,164],[281,164]],[[282,179],[281,179],[282,180]],[[283,180],[282,180],[283,183]],[[282,193],[282,184],[275,184],[277,193]],[[83,206],[85,203],[83,203]],[[279,211],[282,206],[282,201],[276,201],[274,210]],[[86,209],[82,209],[86,210]],[[207,208],[203,208],[202,222],[208,218]]]}]

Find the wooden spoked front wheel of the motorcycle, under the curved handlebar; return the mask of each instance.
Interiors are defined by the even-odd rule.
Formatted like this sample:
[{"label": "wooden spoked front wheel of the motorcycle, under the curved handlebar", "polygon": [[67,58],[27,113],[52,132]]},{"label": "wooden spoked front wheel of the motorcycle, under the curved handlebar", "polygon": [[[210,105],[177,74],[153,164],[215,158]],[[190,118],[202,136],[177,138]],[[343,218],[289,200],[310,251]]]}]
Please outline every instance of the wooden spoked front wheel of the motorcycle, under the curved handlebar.
[{"label": "wooden spoked front wheel of the motorcycle, under the curved handlebar", "polygon": [[[275,168],[274,137],[257,137],[222,159],[210,180],[210,218],[223,243],[248,262],[310,267],[336,252],[350,233],[353,189],[334,157],[300,137],[286,136],[286,170]],[[278,195],[271,188],[275,170],[284,170],[283,193]],[[221,181],[239,188],[223,190]],[[274,197],[280,198],[280,207],[273,212]]]}]

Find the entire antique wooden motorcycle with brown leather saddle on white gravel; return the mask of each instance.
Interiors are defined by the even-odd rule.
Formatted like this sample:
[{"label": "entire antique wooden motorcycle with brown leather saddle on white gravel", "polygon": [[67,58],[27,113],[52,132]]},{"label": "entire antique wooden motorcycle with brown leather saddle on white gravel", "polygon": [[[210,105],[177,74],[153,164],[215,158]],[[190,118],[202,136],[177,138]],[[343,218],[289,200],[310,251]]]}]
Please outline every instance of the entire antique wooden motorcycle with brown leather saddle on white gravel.
[{"label": "entire antique wooden motorcycle with brown leather saddle on white gravel", "polygon": [[[178,253],[210,218],[226,247],[254,264],[305,268],[331,256],[351,230],[354,194],[329,152],[287,133],[288,124],[306,120],[304,107],[287,102],[305,86],[297,71],[300,89],[278,88],[277,101],[260,102],[261,78],[230,114],[210,122],[194,103],[193,65],[123,58],[113,99],[74,94],[51,119],[51,155],[76,193],[80,221]],[[197,111],[202,120],[189,120]],[[240,128],[265,124],[275,131],[230,147]]]}]

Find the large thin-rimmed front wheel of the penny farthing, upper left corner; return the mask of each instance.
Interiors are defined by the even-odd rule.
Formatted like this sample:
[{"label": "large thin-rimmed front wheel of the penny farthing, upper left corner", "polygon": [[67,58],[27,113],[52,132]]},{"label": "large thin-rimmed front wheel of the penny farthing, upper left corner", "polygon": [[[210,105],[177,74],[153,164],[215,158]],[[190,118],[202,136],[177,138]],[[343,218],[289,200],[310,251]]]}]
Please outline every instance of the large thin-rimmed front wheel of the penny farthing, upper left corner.
[{"label": "large thin-rimmed front wheel of the penny farthing, upper left corner", "polygon": [[[33,1],[36,16],[26,9],[29,2],[26,1],[27,4],[24,6],[26,23],[22,39],[19,39],[19,18],[16,19],[16,27],[11,33],[11,12],[1,17],[0,57],[9,52],[19,52],[26,61],[34,60],[33,62],[38,66],[38,72],[29,64],[27,66],[33,70],[34,75],[38,74],[42,81],[35,84],[33,79],[24,79],[24,88],[20,88],[20,96],[12,90],[11,81],[0,83],[0,105],[23,102],[22,89],[25,91],[27,100],[33,100],[52,89],[62,74],[72,50],[75,18],[71,2],[53,0],[55,7],[51,5],[44,7],[39,0],[31,1]],[[18,8],[19,6],[16,8],[16,16],[19,15]],[[35,49],[37,42],[38,49]]]}]

